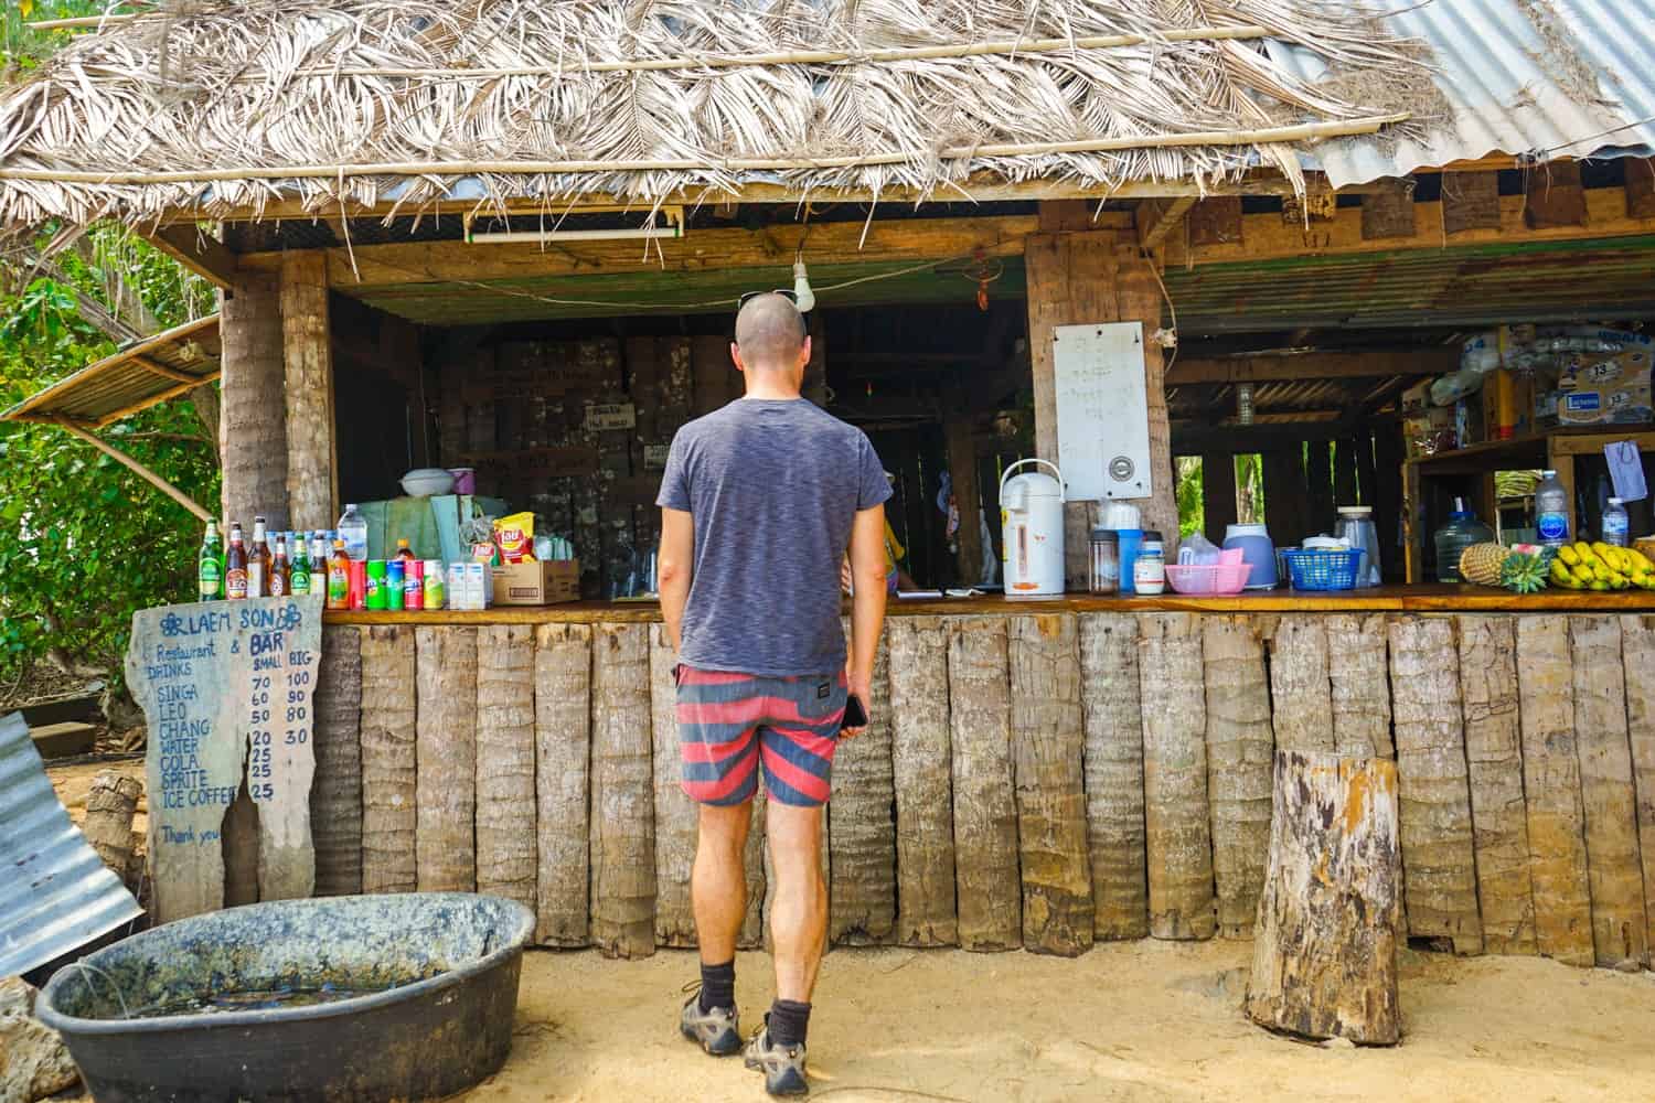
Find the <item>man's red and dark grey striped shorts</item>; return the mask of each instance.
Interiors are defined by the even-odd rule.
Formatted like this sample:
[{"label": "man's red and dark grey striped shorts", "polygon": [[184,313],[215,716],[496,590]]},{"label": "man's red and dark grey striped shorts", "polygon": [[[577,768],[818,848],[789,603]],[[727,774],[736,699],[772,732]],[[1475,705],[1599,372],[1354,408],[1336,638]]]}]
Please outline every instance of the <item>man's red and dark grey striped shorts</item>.
[{"label": "man's red and dark grey striped shorts", "polygon": [[763,764],[771,800],[826,804],[844,700],[844,671],[761,678],[680,665],[684,792],[700,804],[745,804]]}]

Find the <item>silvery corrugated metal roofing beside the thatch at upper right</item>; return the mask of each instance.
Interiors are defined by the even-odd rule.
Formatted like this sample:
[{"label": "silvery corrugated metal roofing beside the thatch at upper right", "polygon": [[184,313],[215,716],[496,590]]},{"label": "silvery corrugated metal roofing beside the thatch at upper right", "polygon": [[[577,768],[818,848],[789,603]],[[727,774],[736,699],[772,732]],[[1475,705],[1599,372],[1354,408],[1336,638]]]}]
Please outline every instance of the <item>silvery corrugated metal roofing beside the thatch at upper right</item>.
[{"label": "silvery corrugated metal roofing beside the thatch at upper right", "polygon": [[[1488,154],[1655,154],[1655,0],[1380,0],[1432,51],[1451,117],[1425,141],[1349,139],[1316,155],[1334,187]],[[1299,76],[1307,51],[1268,41]]]}]

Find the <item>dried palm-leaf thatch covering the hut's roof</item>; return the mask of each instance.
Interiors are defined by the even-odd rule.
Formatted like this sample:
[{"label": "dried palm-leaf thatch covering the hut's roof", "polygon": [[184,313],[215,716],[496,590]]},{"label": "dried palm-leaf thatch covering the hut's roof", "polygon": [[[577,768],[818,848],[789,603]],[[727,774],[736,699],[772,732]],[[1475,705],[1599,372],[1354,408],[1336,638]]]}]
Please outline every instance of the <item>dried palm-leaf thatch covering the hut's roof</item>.
[{"label": "dried palm-leaf thatch covering the hut's roof", "polygon": [[1430,83],[1410,56],[1350,0],[174,2],[0,99],[0,220],[419,208],[458,180],[548,203],[1298,182],[1317,141],[1400,122]]}]

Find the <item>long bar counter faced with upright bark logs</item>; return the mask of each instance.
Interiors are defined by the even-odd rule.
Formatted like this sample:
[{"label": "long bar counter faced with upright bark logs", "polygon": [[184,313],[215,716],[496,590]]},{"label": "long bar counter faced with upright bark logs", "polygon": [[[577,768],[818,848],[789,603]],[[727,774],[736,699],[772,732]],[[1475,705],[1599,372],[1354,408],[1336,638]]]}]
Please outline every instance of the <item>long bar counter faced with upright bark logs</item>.
[{"label": "long bar counter faced with upright bark logs", "polygon": [[[544,944],[693,939],[657,605],[324,622],[318,886],[498,891],[510,853]],[[1652,592],[892,600],[885,643],[828,807],[834,944],[1248,938],[1276,747],[1395,759],[1410,936],[1622,967],[1655,941]]]}]

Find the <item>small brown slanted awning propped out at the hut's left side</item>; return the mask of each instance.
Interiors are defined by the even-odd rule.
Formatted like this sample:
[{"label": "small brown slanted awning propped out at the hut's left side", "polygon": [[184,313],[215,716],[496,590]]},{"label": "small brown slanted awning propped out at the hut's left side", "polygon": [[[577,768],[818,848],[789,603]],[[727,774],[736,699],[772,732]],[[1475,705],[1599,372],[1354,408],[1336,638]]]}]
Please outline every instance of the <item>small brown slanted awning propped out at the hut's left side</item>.
[{"label": "small brown slanted awning propped out at the hut's left side", "polygon": [[156,334],[0,413],[5,422],[71,422],[103,428],[218,379],[218,316]]}]

